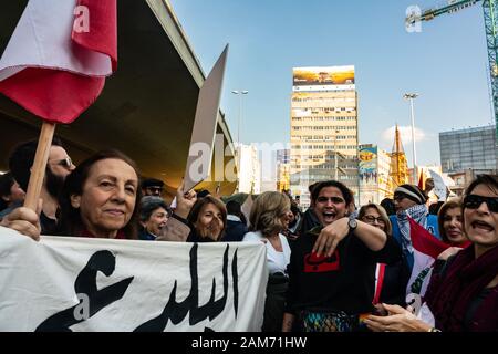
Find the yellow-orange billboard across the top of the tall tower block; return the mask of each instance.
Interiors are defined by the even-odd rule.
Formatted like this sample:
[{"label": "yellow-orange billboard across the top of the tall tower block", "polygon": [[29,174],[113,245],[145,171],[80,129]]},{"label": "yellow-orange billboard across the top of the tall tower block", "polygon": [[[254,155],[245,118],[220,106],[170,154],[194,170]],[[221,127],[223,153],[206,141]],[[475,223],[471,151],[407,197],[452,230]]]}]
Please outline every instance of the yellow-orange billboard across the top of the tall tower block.
[{"label": "yellow-orange billboard across the top of the tall tower block", "polygon": [[354,65],[293,69],[293,91],[355,90]]}]

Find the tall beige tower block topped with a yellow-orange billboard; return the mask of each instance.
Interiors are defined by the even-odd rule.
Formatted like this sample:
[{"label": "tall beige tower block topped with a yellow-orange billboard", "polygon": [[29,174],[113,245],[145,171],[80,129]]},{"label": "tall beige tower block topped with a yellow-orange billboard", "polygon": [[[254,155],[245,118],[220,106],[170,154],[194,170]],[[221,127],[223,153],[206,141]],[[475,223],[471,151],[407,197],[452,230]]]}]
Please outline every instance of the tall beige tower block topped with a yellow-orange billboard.
[{"label": "tall beige tower block topped with a yellow-orange billboard", "polygon": [[357,96],[354,66],[294,67],[291,103],[291,192],[309,206],[308,186],[338,179],[355,194]]}]

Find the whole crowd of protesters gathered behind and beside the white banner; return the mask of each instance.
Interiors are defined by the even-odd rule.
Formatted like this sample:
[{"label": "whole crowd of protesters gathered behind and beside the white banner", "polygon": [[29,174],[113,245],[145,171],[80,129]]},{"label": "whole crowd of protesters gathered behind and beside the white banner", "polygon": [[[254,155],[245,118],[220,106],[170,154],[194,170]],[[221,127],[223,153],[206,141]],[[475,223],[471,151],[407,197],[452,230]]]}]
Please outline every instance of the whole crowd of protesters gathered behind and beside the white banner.
[{"label": "whole crowd of protesters gathered behind and beside the white banner", "polygon": [[[75,166],[50,149],[38,210],[22,206],[37,144],[19,145],[0,176],[0,225],[40,235],[176,242],[262,242],[269,273],[262,331],[405,332],[498,330],[498,176],[478,176],[461,198],[430,204],[402,185],[393,199],[356,209],[336,180],[310,186],[307,210],[289,192],[255,196],[251,210],[207,190],[143,179],[117,150]],[[429,184],[428,184],[429,185]],[[407,303],[415,262],[411,222],[447,244],[430,270],[423,308]],[[421,313],[429,315],[421,315]]]}]

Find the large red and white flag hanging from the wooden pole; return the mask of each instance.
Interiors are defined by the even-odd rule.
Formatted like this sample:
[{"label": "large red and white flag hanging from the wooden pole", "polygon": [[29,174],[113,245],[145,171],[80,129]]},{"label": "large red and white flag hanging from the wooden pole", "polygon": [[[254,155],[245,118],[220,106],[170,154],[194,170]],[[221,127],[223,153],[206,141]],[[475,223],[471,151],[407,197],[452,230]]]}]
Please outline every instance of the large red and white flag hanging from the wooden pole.
[{"label": "large red and white flag hanging from the wooden pole", "polygon": [[30,0],[0,59],[0,93],[71,123],[117,66],[116,0]]}]

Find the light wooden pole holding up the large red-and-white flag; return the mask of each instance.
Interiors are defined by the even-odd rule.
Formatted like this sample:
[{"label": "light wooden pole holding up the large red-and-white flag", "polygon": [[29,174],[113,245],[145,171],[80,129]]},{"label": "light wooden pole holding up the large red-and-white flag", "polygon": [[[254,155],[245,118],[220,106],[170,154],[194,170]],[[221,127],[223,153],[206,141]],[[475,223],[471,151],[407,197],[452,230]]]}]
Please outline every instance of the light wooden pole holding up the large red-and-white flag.
[{"label": "light wooden pole holding up the large red-and-white flag", "polygon": [[24,199],[24,207],[37,211],[43,178],[45,177],[46,162],[49,160],[50,147],[52,146],[55,124],[44,122],[42,124],[40,138],[38,139],[37,154],[31,167],[31,177]]}]

